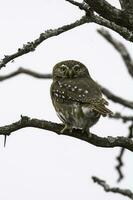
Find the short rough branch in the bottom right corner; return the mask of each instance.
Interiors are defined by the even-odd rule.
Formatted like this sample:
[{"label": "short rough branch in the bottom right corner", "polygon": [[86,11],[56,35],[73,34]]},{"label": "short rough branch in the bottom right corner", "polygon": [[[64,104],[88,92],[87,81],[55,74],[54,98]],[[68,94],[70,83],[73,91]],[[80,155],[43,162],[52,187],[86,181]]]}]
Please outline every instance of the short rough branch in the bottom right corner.
[{"label": "short rough branch in the bottom right corner", "polygon": [[118,194],[127,196],[130,199],[133,199],[133,192],[129,189],[120,189],[118,187],[110,187],[104,180],[101,180],[95,176],[93,176],[92,179],[94,183],[97,183],[98,185],[102,186],[105,192],[118,193]]}]

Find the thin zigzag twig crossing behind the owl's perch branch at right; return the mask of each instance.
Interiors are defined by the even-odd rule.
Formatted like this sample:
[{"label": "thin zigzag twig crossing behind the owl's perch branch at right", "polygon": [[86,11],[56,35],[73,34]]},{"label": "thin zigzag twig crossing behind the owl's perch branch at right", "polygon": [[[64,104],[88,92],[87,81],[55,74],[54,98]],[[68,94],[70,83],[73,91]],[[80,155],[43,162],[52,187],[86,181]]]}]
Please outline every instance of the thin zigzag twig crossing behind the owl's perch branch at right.
[{"label": "thin zigzag twig crossing behind the owl's perch branch at right", "polygon": [[[128,138],[132,138],[133,137],[133,124],[131,124],[129,126],[129,134],[127,136]],[[123,155],[124,155],[124,152],[125,152],[125,148],[121,148],[120,149],[120,153],[119,155],[116,157],[117,161],[118,161],[118,165],[116,166],[116,169],[118,171],[118,174],[119,174],[119,177],[118,177],[118,180],[117,182],[120,182],[123,178],[124,178],[124,175],[122,173],[122,167],[124,165],[123,161],[122,161],[122,158],[123,158]]]}]

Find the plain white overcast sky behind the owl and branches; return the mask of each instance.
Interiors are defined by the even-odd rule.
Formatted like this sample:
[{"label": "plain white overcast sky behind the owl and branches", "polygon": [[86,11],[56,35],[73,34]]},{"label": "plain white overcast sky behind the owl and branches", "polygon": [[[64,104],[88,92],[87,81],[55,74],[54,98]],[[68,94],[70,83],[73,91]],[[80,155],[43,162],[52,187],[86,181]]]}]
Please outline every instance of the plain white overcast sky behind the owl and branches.
[{"label": "plain white overcast sky behind the owl and branches", "polygon": [[[118,0],[110,0],[119,7]],[[0,58],[16,52],[19,47],[39,37],[43,31],[79,19],[84,12],[65,0],[2,0],[0,8]],[[97,32],[95,24],[86,24],[43,42],[36,51],[15,59],[2,68],[0,75],[19,67],[50,73],[62,60],[83,62],[92,77],[103,86],[132,100],[132,79],[118,52]],[[132,52],[132,44],[118,34]],[[20,115],[60,122],[50,99],[51,80],[26,75],[0,83],[0,126],[20,119]],[[110,102],[111,110],[132,114],[131,110]],[[92,128],[99,136],[128,134],[127,125],[101,118]],[[0,137],[0,199],[2,200],[119,200],[126,197],[105,193],[91,176],[105,179],[117,186],[115,157],[119,148],[104,149],[67,136],[35,128],[12,133],[3,147]],[[131,152],[126,151],[123,169],[125,179],[119,184],[133,190]]]}]

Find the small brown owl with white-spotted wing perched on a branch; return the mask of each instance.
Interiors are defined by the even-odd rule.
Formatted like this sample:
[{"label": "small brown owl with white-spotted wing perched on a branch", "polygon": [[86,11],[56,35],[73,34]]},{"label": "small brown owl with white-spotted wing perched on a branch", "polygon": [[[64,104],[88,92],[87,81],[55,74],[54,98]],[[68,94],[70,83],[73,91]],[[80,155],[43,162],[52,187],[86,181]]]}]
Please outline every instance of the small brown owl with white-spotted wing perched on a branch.
[{"label": "small brown owl with white-spotted wing perched on a branch", "polygon": [[62,133],[73,128],[89,133],[89,128],[101,115],[112,114],[86,66],[75,60],[62,61],[54,66],[51,98],[57,115],[65,124]]}]

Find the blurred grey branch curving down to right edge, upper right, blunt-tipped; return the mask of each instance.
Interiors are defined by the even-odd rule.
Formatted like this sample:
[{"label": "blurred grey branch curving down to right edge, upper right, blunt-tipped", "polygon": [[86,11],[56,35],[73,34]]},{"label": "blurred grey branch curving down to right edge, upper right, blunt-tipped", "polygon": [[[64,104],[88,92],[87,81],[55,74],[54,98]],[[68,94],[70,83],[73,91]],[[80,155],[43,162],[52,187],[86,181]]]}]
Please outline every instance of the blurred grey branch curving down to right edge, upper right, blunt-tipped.
[{"label": "blurred grey branch curving down to right edge, upper right, blunt-tipped", "polygon": [[121,42],[117,41],[113,36],[105,29],[97,30],[100,35],[102,35],[108,42],[110,42],[114,48],[120,53],[123,61],[128,69],[129,74],[133,77],[133,60],[130,56],[130,53]]}]

